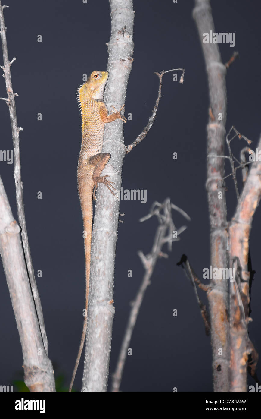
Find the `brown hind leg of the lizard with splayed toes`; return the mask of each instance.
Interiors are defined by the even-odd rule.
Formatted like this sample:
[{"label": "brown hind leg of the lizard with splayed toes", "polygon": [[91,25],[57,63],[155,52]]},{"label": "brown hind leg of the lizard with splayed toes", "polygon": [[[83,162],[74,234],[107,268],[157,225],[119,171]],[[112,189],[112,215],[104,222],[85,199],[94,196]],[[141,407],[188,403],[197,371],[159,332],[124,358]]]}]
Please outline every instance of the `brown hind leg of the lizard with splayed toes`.
[{"label": "brown hind leg of the lizard with splayed toes", "polygon": [[98,186],[98,182],[105,184],[105,186],[107,186],[107,188],[109,189],[109,191],[115,195],[115,197],[117,196],[114,192],[113,189],[116,191],[117,189],[114,188],[114,182],[109,181],[106,178],[109,178],[109,175],[106,176],[100,176],[101,172],[103,171],[103,169],[105,168],[106,164],[108,163],[108,161],[110,160],[110,153],[100,153],[100,154],[96,154],[94,156],[90,157],[90,164],[92,164],[93,166],[95,166],[93,174],[92,174],[92,179],[94,181],[95,187],[93,190],[93,199],[96,200],[96,196],[95,196],[95,192]]}]

